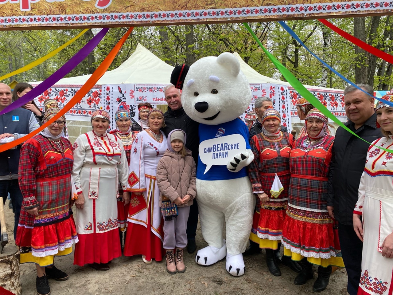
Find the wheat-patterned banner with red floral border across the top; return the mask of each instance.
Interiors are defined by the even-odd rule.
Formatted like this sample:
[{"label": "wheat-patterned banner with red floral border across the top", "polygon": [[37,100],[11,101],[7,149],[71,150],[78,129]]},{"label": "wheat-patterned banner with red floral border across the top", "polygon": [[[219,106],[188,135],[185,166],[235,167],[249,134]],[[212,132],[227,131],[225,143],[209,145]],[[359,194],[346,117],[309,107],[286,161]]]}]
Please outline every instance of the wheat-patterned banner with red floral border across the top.
[{"label": "wheat-patterned banner with red floral border across the top", "polygon": [[62,28],[69,25],[96,28],[107,25],[257,22],[343,15],[354,17],[386,15],[393,8],[392,1],[325,1],[297,0],[295,3],[282,5],[280,0],[200,0],[190,5],[187,1],[165,0],[156,0],[154,3],[129,0],[0,0],[0,30],[24,27]]}]

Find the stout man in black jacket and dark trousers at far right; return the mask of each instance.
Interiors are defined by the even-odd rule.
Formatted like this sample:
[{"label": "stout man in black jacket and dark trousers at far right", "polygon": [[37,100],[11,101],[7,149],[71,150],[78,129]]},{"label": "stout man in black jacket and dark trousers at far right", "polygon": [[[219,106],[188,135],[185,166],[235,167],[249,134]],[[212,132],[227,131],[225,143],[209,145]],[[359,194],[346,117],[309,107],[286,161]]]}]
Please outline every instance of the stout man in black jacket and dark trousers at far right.
[{"label": "stout man in black jacket and dark trousers at far right", "polygon": [[[358,87],[373,95],[373,88],[360,84]],[[348,86],[344,90],[345,112],[348,122],[345,125],[367,142],[382,137],[376,128],[374,98]],[[347,269],[347,290],[356,295],[362,272],[363,244],[353,229],[353,209],[358,200],[360,177],[364,171],[369,144],[338,127],[332,148],[332,161],[329,170],[329,196],[327,210],[339,223],[338,236],[341,252]]]}]

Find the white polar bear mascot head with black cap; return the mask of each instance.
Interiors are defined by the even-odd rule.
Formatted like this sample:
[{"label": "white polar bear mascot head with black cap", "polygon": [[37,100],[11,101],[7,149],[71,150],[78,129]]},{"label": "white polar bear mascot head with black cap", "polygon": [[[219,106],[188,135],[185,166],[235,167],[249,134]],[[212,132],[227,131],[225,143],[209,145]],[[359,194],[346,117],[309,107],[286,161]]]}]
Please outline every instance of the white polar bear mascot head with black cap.
[{"label": "white polar bear mascot head with black cap", "polygon": [[250,105],[250,85],[232,53],[204,57],[190,67],[178,66],[172,75],[174,79],[171,79],[175,87],[180,85],[174,76],[182,68],[182,75],[186,74],[182,85],[182,106],[194,121],[207,125],[229,122],[241,116]]}]

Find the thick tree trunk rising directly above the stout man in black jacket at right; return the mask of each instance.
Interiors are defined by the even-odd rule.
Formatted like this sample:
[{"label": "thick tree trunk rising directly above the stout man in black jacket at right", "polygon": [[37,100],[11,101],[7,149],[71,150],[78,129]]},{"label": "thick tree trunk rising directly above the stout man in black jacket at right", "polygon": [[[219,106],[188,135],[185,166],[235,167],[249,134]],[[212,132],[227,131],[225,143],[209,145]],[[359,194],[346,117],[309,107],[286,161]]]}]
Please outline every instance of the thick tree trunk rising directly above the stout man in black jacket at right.
[{"label": "thick tree trunk rising directly above the stout man in black jacket at right", "polygon": [[[364,42],[366,41],[365,17],[353,18],[353,35]],[[367,59],[365,57],[365,51],[362,48],[355,46],[355,53],[357,55],[355,60],[355,83],[367,83]]]}]

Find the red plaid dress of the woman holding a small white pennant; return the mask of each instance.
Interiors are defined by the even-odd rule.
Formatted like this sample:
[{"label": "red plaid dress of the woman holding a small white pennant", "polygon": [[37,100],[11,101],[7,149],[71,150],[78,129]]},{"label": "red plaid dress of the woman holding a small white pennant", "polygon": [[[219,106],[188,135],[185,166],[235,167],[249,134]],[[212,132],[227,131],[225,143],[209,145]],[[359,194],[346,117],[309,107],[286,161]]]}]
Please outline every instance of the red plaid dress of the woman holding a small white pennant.
[{"label": "red plaid dress of the woman holding a small white pennant", "polygon": [[[261,248],[277,249],[281,243],[288,188],[290,181],[289,156],[294,142],[293,135],[281,132],[277,138],[259,133],[250,140],[254,160],[249,166],[248,174],[253,193],[264,192],[270,201],[263,203],[257,197],[250,240]],[[277,173],[284,190],[272,198],[270,188]]]}]

